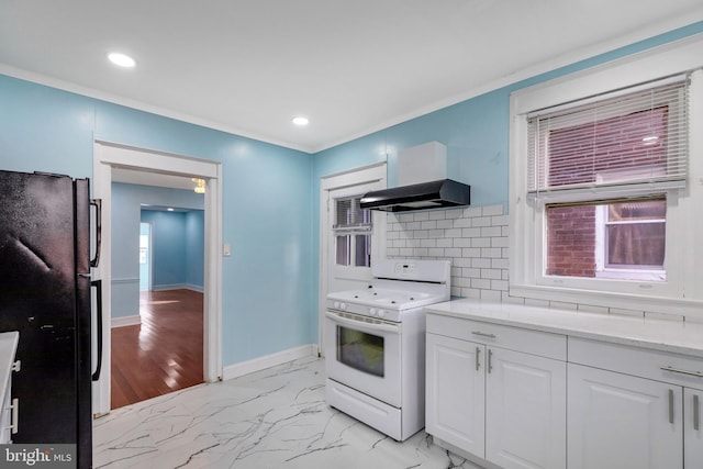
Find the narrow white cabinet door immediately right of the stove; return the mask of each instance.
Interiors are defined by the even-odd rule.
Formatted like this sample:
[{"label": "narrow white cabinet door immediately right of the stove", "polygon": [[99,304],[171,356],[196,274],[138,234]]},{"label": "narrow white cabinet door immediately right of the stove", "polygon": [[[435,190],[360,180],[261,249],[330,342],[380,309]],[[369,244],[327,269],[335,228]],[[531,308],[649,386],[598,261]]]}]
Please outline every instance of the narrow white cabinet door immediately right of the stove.
[{"label": "narrow white cabinet door immediately right of the stove", "polygon": [[483,350],[479,344],[427,334],[425,429],[479,457],[484,451]]}]

